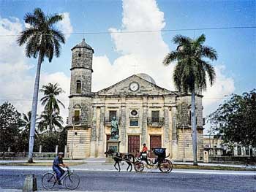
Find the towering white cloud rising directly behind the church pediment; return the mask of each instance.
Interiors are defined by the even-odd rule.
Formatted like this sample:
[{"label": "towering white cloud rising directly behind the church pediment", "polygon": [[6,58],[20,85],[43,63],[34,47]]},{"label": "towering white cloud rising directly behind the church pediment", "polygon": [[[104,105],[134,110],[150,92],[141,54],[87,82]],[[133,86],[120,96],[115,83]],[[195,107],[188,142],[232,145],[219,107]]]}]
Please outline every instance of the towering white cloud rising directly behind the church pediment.
[{"label": "towering white cloud rising directly behind the church pediment", "polygon": [[[110,64],[108,58],[94,57],[93,89],[97,91],[136,73],[147,73],[157,85],[173,89],[170,74],[173,65],[163,66],[162,59],[169,52],[161,32],[154,33],[114,33],[125,31],[162,30],[165,27],[164,13],[154,0],[123,1],[123,19],[120,29],[110,28],[113,43],[120,57]],[[104,56],[106,57],[106,56]],[[136,70],[134,65],[136,65]],[[100,68],[98,67],[100,66]],[[102,75],[102,72],[104,74]],[[111,75],[110,75],[111,74]],[[106,75],[108,81],[106,81]],[[101,83],[98,83],[101,82]]]}]

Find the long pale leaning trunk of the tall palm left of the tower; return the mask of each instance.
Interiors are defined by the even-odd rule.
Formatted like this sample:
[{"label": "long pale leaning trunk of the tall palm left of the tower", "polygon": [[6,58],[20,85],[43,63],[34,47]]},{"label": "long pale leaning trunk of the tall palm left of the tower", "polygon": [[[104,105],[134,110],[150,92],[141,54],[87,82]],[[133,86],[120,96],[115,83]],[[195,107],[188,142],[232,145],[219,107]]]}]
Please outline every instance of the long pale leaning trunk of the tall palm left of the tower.
[{"label": "long pale leaning trunk of the tall palm left of the tower", "polygon": [[36,128],[37,101],[38,101],[41,64],[42,64],[42,55],[39,52],[38,61],[37,61],[37,74],[34,81],[34,94],[33,94],[32,110],[31,110],[31,124],[30,124],[30,134],[29,134],[29,160],[28,160],[29,163],[33,162],[34,133]]}]

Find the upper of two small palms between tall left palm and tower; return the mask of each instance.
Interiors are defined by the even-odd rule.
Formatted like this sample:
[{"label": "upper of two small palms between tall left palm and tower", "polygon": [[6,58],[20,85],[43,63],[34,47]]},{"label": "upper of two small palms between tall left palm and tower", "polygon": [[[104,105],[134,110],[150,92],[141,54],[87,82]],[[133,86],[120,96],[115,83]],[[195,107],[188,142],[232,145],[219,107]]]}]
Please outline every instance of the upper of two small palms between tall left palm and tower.
[{"label": "upper of two small palms between tall left palm and tower", "polygon": [[59,87],[58,83],[55,83],[53,85],[49,82],[48,85],[42,86],[40,92],[43,92],[45,95],[42,97],[40,101],[42,101],[42,105],[45,105],[45,110],[50,112],[50,127],[52,128],[53,112],[60,112],[59,104],[61,104],[61,106],[65,108],[64,104],[59,99],[56,99],[56,96],[59,96],[59,94],[64,93],[64,91],[62,90],[62,88]]}]

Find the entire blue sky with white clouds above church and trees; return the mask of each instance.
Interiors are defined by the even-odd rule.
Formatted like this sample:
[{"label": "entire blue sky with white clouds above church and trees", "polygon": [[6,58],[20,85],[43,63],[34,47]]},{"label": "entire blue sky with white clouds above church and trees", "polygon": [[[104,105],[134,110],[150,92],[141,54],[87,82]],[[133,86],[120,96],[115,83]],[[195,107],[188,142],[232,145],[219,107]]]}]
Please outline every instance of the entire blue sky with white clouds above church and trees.
[{"label": "entire blue sky with white clouds above church and trees", "polygon": [[[10,101],[20,112],[31,110],[37,59],[26,58],[24,47],[19,47],[16,39],[26,26],[24,15],[36,7],[48,14],[64,15],[56,28],[67,34],[67,42],[62,45],[59,58],[53,58],[51,63],[45,60],[40,77],[40,86],[58,82],[64,89],[59,97],[66,106],[61,110],[64,119],[69,104],[70,49],[83,38],[95,52],[93,91],[140,72],[151,75],[157,85],[174,90],[175,64],[163,66],[162,59],[176,49],[171,41],[176,34],[191,38],[205,34],[205,44],[217,50],[218,59],[211,62],[217,80],[203,93],[204,117],[217,110],[231,93],[256,88],[255,28],[197,30],[255,27],[256,1],[0,0],[0,103]],[[178,29],[194,30],[175,31]],[[156,32],[121,33],[125,31]],[[40,104],[38,111],[42,111]]]}]

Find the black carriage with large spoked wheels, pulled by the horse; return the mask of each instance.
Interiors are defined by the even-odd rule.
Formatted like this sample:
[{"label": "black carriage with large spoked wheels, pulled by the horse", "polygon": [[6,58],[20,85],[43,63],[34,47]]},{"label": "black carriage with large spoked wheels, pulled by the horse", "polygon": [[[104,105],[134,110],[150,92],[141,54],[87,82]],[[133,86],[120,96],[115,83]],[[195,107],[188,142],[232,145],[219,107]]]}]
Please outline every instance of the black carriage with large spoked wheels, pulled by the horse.
[{"label": "black carriage with large spoked wheels, pulled by the horse", "polygon": [[165,148],[160,147],[153,148],[152,151],[154,155],[156,155],[154,161],[151,161],[146,153],[141,153],[140,158],[137,158],[137,161],[135,161],[135,171],[143,172],[143,169],[146,166],[148,169],[159,169],[164,173],[171,172],[173,170],[173,164],[169,159],[167,159],[169,155],[166,156],[165,150]]}]

